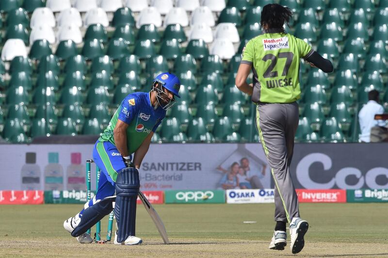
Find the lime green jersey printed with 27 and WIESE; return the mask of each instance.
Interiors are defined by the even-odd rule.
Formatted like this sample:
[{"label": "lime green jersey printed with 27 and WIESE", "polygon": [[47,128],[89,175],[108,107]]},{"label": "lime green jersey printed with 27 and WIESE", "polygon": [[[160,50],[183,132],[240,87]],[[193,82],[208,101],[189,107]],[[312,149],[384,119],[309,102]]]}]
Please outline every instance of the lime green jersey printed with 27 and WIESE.
[{"label": "lime green jersey printed with 27 and WIESE", "polygon": [[252,64],[252,101],[291,103],[300,98],[300,58],[307,58],[310,45],[291,34],[264,33],[245,45],[242,64]]}]

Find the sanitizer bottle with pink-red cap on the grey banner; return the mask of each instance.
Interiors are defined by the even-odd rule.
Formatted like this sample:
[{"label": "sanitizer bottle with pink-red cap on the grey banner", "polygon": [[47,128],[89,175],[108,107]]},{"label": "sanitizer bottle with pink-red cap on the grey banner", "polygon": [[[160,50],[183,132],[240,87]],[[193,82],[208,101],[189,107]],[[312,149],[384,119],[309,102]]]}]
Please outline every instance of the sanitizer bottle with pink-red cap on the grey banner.
[{"label": "sanitizer bottle with pink-red cap on the grey banner", "polygon": [[71,165],[67,167],[67,190],[84,191],[85,185],[85,167],[81,164],[81,153],[71,153]]}]

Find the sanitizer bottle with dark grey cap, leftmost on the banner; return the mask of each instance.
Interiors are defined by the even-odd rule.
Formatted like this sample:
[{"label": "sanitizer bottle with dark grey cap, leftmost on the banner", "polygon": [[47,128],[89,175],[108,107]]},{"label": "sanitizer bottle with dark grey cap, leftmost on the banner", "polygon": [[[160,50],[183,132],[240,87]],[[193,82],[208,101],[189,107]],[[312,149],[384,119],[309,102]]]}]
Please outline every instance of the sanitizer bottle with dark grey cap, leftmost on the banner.
[{"label": "sanitizer bottle with dark grey cap, leftmost on the banner", "polygon": [[40,167],[36,164],[36,153],[26,153],[26,164],[21,168],[21,189],[41,190]]}]

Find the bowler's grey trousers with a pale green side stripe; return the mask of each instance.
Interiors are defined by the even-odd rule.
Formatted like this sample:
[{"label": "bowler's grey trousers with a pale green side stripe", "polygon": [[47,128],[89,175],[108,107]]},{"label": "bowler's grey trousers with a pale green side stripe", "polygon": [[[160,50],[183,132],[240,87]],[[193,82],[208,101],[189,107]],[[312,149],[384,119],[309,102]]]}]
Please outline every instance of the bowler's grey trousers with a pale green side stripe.
[{"label": "bowler's grey trousers with a pale green side stripe", "polygon": [[290,175],[299,109],[292,103],[259,103],[256,123],[275,181],[275,221],[299,217],[299,202]]}]

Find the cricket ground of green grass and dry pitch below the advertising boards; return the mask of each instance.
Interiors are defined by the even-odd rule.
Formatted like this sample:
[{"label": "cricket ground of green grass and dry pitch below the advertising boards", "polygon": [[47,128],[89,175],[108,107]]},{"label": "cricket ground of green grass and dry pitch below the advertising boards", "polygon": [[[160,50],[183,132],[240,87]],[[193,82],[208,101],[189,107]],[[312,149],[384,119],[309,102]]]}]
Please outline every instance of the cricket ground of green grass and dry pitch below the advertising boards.
[{"label": "cricket ground of green grass and dry pitch below the advertising boards", "polygon": [[[162,239],[143,205],[137,210],[137,246],[79,244],[62,224],[81,205],[0,206],[0,257],[272,257],[268,249],[274,204],[155,205],[171,244]],[[309,224],[301,257],[388,257],[388,204],[301,204]],[[102,222],[106,239],[108,219]],[[257,221],[244,224],[243,221]],[[93,228],[92,232],[95,231]],[[290,238],[288,239],[290,240]]]}]

